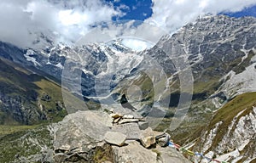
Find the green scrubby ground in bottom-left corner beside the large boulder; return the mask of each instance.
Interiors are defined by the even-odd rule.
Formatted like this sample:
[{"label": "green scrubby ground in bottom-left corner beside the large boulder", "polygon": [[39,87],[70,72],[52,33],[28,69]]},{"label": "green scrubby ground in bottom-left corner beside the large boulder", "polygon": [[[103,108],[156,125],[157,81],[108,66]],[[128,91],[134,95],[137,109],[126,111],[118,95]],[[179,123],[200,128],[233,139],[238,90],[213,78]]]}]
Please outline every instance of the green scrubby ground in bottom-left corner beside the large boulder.
[{"label": "green scrubby ground in bottom-left corner beside the large boulder", "polygon": [[51,162],[53,137],[46,126],[0,126],[0,162]]}]

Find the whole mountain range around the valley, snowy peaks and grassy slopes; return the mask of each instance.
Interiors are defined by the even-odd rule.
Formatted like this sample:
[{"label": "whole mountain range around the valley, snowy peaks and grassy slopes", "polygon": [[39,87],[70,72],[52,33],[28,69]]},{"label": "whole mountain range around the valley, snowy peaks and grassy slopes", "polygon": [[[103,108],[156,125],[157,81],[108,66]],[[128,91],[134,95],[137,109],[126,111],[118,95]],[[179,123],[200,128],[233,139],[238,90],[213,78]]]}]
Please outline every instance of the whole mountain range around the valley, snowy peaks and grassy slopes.
[{"label": "whole mountain range around the valley, snowy peaks and grassy slopes", "polygon": [[[61,121],[76,110],[116,108],[127,93],[148,123],[175,142],[218,160],[253,162],[255,37],[253,17],[207,15],[142,52],[125,47],[122,39],[70,47],[42,35],[42,49],[0,42],[0,160],[5,155],[3,162],[18,161],[3,144],[19,138],[4,126],[30,125],[15,128],[21,138],[24,131],[40,132],[36,125]],[[178,118],[180,126],[169,128]],[[32,158],[25,153],[20,155]]]}]

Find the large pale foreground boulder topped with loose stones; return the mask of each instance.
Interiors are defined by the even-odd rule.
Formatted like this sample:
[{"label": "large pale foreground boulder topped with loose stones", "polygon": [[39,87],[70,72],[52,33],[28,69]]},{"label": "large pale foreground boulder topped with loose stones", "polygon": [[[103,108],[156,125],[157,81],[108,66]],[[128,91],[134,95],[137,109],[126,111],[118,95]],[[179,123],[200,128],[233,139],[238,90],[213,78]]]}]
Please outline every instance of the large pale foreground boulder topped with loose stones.
[{"label": "large pale foreground boulder topped with loose stones", "polygon": [[[122,122],[122,120],[126,121]],[[189,162],[175,149],[166,147],[168,134],[154,132],[150,127],[145,126],[140,129],[142,126],[138,121],[143,119],[135,118],[134,115],[113,112],[108,114],[102,111],[79,111],[67,115],[59,122],[59,127],[55,131],[54,160],[55,162]],[[162,138],[161,143],[160,138]],[[166,138],[166,141],[163,141],[163,138]]]}]

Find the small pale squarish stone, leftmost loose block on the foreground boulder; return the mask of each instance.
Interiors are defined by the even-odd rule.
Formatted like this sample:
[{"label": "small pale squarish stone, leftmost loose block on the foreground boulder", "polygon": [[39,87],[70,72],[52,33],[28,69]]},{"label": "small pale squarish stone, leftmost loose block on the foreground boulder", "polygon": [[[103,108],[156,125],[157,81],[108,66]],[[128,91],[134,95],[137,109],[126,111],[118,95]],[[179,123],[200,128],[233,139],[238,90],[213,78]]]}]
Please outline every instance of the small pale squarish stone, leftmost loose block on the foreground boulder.
[{"label": "small pale squarish stone, leftmost loose block on the foreground boulder", "polygon": [[104,140],[107,143],[122,146],[125,144],[126,135],[121,132],[107,132],[104,136]]}]

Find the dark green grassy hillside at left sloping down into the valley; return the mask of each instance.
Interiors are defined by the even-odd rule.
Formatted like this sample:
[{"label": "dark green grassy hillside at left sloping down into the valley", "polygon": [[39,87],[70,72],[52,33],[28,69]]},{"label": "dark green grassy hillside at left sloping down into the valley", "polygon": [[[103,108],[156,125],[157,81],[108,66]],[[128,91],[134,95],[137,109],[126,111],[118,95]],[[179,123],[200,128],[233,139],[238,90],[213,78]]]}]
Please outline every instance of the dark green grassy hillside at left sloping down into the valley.
[{"label": "dark green grassy hillside at left sloping down into the valley", "polygon": [[[83,103],[66,93],[71,101]],[[0,99],[0,125],[61,121],[67,115],[58,83],[6,59],[0,59]]]}]

